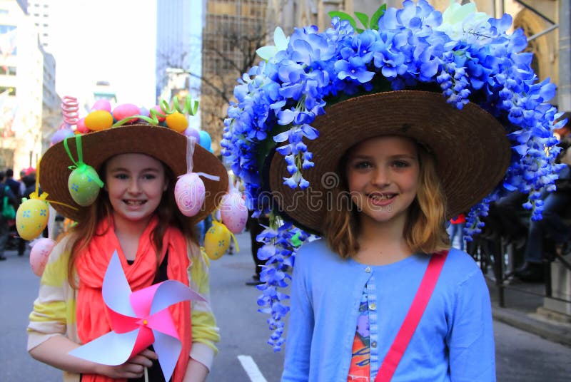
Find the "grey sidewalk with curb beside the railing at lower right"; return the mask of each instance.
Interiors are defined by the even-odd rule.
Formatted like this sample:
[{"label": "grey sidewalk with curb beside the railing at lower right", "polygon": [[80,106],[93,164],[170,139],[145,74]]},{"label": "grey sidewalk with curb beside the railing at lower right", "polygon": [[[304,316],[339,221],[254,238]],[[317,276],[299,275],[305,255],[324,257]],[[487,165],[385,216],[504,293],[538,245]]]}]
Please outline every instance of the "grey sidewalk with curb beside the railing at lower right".
[{"label": "grey sidewalk with curb beside the railing at lower right", "polygon": [[[491,271],[490,271],[491,272]],[[504,288],[504,305],[499,305],[498,288],[486,277],[492,299],[492,316],[497,321],[536,334],[549,341],[571,346],[570,316],[543,307],[543,284],[511,284]],[[526,292],[526,293],[524,293]]]}]

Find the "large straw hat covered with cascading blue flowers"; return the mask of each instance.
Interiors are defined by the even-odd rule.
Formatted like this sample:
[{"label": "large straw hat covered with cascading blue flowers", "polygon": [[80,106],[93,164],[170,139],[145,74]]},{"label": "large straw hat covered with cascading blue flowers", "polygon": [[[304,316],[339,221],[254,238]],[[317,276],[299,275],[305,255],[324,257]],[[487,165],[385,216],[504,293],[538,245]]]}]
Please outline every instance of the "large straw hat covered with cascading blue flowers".
[{"label": "large straw hat covered with cascading blue flowers", "polygon": [[490,202],[515,190],[540,219],[540,195],[555,190],[562,168],[553,130],[567,121],[548,103],[555,85],[538,81],[523,31],[507,33],[510,15],[490,18],[473,3],[441,14],[425,0],[355,15],[363,29],[339,13],[326,31],[276,29],[276,46],[258,50],[263,61],[242,76],[228,108],[223,155],[245,182],[248,207],[270,217],[258,236],[266,260],[258,305],[276,351],[289,310],[286,270],[323,221],[311,196],[338,186],[335,169],[351,146],[387,134],[425,145],[448,216],[471,207],[469,234],[480,232]]}]

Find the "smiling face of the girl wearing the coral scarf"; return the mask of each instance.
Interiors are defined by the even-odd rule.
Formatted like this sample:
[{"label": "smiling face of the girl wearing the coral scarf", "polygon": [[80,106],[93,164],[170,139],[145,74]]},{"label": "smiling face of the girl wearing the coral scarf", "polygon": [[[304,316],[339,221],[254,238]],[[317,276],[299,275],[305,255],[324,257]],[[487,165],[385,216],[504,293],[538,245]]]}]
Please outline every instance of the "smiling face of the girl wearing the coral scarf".
[{"label": "smiling face of the girl wearing the coral scarf", "polygon": [[146,224],[161,203],[168,180],[160,161],[129,153],[108,160],[105,185],[116,224]]}]

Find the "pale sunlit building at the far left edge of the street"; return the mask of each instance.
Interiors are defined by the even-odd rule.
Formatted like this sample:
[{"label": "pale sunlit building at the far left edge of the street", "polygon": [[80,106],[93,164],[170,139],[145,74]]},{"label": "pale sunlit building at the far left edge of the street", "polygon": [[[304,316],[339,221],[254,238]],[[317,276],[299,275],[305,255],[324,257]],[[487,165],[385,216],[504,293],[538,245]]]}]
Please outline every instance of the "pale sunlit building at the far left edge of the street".
[{"label": "pale sunlit building at the far left edge of the street", "polygon": [[39,44],[26,1],[0,1],[0,167],[36,166],[58,103],[55,61]]}]

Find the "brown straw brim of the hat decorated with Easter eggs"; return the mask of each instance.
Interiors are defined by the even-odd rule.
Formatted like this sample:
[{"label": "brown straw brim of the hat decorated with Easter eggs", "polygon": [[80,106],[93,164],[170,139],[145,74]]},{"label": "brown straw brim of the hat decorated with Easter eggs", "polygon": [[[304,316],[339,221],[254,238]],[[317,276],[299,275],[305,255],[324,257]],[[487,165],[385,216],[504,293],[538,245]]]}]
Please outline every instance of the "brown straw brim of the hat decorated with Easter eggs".
[{"label": "brown straw brim of the hat decorated with Easter eggs", "polygon": [[[77,160],[76,140],[69,139],[68,147]],[[169,128],[153,125],[124,125],[118,128],[81,135],[81,147],[86,165],[99,172],[103,162],[118,154],[142,153],[161,160],[175,177],[186,174],[187,138]],[[66,153],[64,142],[56,143],[42,156],[39,184],[48,194],[52,207],[71,220],[81,222],[87,207],[81,207],[71,197],[68,190],[69,166],[73,165]],[[192,217],[198,223],[210,214],[228,191],[228,173],[222,162],[208,150],[198,145],[194,147],[193,172],[205,172],[220,178],[219,181],[202,178],[206,187],[203,207]],[[103,180],[104,181],[104,180]],[[59,203],[63,203],[59,204]]]}]

